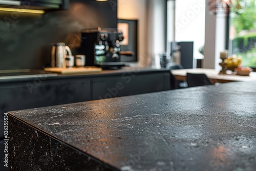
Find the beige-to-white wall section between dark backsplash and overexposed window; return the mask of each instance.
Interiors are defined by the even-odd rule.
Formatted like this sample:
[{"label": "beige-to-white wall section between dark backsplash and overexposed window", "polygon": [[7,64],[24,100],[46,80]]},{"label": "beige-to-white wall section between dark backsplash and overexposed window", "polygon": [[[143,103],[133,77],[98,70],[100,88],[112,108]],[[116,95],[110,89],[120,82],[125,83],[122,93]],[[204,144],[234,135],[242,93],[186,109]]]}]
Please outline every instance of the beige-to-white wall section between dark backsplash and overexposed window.
[{"label": "beige-to-white wall section between dark backsplash and overexposed window", "polygon": [[118,0],[118,18],[138,19],[141,67],[155,67],[155,57],[165,51],[165,3],[166,0]]}]

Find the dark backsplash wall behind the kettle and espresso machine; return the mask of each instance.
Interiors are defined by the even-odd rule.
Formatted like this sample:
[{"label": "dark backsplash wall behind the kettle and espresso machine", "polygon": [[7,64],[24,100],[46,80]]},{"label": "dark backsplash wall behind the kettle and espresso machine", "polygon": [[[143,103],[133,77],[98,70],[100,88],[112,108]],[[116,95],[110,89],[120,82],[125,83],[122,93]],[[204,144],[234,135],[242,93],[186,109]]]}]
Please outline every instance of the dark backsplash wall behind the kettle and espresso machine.
[{"label": "dark backsplash wall behind the kettle and espresso machine", "polygon": [[0,11],[0,70],[49,66],[53,42],[65,42],[75,55],[80,31],[96,27],[117,27],[117,0],[70,0],[69,10],[45,14]]}]

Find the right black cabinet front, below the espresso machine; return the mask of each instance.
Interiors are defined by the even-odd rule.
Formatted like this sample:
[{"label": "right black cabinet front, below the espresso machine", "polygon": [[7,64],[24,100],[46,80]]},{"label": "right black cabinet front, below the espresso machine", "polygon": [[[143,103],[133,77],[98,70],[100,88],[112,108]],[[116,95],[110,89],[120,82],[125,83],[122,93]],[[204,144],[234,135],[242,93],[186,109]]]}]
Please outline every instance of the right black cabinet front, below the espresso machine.
[{"label": "right black cabinet front, below the espresso machine", "polygon": [[169,90],[169,73],[123,73],[92,80],[92,100]]}]

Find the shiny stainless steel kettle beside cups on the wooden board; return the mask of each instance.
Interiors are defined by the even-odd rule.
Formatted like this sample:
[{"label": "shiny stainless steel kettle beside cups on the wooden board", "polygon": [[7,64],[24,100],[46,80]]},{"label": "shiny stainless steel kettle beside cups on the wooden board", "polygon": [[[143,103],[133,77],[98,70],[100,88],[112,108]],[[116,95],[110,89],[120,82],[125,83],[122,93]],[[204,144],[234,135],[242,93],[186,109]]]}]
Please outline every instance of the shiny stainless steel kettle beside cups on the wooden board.
[{"label": "shiny stainless steel kettle beside cups on the wooden board", "polygon": [[51,67],[65,68],[66,55],[72,55],[72,52],[68,46],[65,46],[65,43],[56,42],[52,44]]}]

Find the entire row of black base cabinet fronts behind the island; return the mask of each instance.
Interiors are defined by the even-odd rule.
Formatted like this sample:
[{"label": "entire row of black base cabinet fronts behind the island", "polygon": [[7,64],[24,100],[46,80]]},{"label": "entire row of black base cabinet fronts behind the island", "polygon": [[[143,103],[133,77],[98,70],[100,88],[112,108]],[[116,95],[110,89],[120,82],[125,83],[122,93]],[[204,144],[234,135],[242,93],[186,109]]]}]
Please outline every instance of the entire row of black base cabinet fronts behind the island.
[{"label": "entire row of black base cabinet fronts behind the island", "polygon": [[0,140],[5,112],[170,90],[168,70],[0,79]]}]

